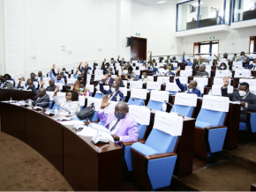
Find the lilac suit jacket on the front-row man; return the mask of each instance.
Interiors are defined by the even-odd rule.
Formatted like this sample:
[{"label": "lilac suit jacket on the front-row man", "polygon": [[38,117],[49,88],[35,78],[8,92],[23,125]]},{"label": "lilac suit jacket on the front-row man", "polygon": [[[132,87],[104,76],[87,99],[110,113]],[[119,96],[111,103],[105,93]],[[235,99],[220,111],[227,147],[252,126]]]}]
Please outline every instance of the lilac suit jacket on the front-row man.
[{"label": "lilac suit jacket on the front-row man", "polygon": [[[109,123],[117,119],[114,113],[105,114],[104,112],[97,112],[97,114],[107,129],[109,129]],[[119,122],[116,135],[122,137],[124,143],[138,140],[138,125],[129,113],[124,116],[123,121]]]}]

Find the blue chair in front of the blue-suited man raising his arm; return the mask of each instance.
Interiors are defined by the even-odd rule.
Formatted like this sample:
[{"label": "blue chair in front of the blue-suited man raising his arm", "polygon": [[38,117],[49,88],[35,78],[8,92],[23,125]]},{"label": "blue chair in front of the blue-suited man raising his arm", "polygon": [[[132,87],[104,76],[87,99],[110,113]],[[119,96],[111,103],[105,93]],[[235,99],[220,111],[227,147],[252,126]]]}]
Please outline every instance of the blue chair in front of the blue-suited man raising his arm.
[{"label": "blue chair in front of the blue-suited man raising his arm", "polygon": [[176,112],[187,117],[192,117],[194,108],[197,105],[197,100],[196,94],[177,92],[173,105],[174,107],[171,108],[170,112]]}]

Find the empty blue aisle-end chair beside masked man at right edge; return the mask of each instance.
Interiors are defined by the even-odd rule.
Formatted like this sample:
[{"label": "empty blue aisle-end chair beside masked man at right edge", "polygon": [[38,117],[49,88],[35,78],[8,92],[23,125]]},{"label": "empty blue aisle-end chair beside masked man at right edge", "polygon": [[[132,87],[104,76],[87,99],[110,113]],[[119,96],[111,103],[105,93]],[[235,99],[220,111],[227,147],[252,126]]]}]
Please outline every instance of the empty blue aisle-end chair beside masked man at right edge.
[{"label": "empty blue aisle-end chair beside masked man at right edge", "polygon": [[200,114],[195,122],[194,153],[196,155],[207,159],[213,153],[222,151],[228,129],[224,123],[229,107],[229,98],[204,96]]}]

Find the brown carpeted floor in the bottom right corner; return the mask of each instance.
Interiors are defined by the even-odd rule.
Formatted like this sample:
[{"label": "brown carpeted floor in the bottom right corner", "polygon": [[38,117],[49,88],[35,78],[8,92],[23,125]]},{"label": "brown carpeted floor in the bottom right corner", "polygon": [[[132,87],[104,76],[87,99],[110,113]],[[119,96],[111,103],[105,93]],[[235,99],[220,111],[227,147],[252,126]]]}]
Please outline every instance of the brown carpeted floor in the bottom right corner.
[{"label": "brown carpeted floor in the bottom right corner", "polygon": [[179,181],[202,191],[250,191],[256,173],[224,161]]}]

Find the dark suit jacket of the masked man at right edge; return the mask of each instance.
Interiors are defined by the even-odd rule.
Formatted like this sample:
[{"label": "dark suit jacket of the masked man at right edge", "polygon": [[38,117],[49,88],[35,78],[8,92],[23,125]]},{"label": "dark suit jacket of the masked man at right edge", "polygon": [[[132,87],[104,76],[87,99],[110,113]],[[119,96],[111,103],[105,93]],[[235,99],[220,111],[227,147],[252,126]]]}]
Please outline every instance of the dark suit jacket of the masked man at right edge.
[{"label": "dark suit jacket of the masked man at right edge", "polygon": [[248,107],[242,107],[240,113],[240,122],[246,122],[247,111],[256,111],[256,95],[249,92],[245,99],[242,99],[239,92],[228,93],[227,88],[222,87],[222,96],[229,97],[232,101],[245,101]]}]

